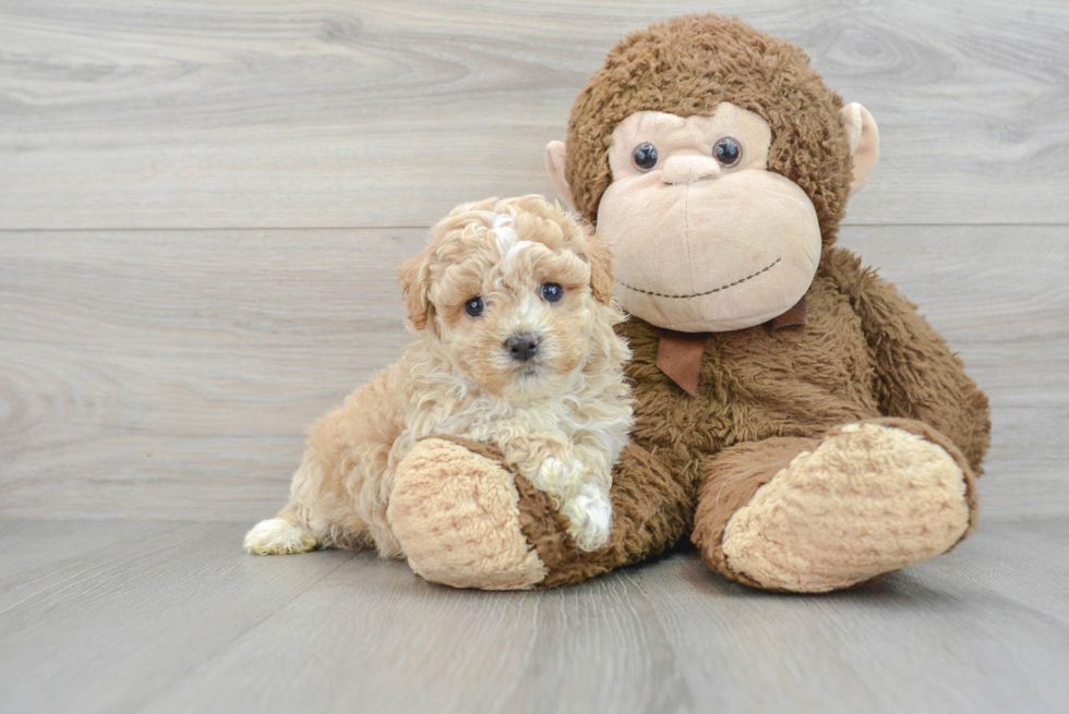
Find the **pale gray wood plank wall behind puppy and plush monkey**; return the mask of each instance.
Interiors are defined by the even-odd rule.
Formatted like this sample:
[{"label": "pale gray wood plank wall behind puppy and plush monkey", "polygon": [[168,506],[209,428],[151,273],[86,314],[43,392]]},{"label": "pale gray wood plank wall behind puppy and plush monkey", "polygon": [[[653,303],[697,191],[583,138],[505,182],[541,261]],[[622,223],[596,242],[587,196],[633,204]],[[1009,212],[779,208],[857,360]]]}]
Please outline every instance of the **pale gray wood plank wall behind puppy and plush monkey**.
[{"label": "pale gray wood plank wall behind puppy and plush monkey", "polygon": [[840,243],[994,407],[989,517],[1069,516],[1064,2],[0,1],[0,517],[253,519],[407,340],[396,264],[686,12],[803,46],[882,158]]}]

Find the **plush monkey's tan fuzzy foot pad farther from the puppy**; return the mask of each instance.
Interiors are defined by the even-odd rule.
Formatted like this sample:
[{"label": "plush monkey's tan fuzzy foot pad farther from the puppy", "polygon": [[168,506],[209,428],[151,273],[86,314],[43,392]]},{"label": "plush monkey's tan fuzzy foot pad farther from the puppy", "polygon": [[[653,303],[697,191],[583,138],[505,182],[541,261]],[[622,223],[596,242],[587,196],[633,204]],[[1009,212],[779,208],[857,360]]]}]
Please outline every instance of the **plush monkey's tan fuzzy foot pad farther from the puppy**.
[{"label": "plush monkey's tan fuzzy foot pad farther from the puppy", "polygon": [[966,492],[959,463],[923,436],[846,425],[732,516],[728,567],[773,590],[849,588],[953,547],[970,525]]}]

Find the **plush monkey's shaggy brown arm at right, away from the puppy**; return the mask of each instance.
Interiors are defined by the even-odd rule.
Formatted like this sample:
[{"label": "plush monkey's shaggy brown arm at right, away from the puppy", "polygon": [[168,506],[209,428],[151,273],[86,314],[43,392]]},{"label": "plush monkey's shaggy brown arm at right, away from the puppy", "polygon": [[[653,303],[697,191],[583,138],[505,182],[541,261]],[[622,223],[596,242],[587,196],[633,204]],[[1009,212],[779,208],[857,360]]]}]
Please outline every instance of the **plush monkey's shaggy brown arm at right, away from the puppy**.
[{"label": "plush monkey's shaggy brown arm at right, away from the puppy", "polygon": [[962,450],[976,475],[990,441],[987,396],[946,340],[893,285],[834,249],[826,268],[861,317],[875,365],[875,389],[887,416],[915,419],[942,432]]}]

